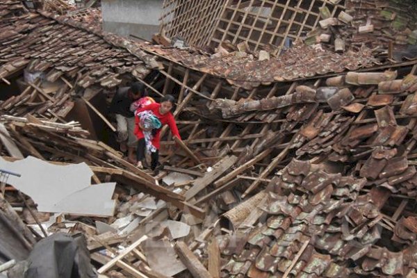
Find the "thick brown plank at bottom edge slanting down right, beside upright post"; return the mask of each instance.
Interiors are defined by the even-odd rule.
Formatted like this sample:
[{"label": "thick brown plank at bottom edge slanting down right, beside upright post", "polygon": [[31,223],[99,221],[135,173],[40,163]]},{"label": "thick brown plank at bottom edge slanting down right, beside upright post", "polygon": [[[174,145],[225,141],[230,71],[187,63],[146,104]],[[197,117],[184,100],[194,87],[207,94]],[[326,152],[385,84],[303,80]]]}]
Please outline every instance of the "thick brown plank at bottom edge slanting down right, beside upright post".
[{"label": "thick brown plank at bottom edge slanting down right, beside upright post", "polygon": [[188,268],[194,278],[212,278],[210,272],[204,268],[204,265],[199,261],[197,256],[188,249],[188,246],[182,241],[177,241],[175,250],[179,255],[179,259]]}]

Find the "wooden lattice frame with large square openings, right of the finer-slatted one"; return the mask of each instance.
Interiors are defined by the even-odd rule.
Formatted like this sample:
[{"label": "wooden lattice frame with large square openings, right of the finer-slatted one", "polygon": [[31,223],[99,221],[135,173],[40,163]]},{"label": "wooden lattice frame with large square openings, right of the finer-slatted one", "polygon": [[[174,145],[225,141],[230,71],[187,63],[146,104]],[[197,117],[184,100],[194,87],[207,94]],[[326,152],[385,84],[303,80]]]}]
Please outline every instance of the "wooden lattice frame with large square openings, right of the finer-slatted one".
[{"label": "wooden lattice frame with large square openings, right of the finer-slatted one", "polygon": [[345,9],[343,1],[332,0],[229,1],[218,20],[211,46],[225,40],[232,44],[245,41],[250,49],[259,50],[272,44],[278,47],[279,54],[288,44],[287,39],[299,40],[318,25],[319,8],[324,6],[332,16]]}]

